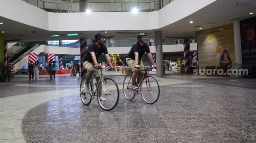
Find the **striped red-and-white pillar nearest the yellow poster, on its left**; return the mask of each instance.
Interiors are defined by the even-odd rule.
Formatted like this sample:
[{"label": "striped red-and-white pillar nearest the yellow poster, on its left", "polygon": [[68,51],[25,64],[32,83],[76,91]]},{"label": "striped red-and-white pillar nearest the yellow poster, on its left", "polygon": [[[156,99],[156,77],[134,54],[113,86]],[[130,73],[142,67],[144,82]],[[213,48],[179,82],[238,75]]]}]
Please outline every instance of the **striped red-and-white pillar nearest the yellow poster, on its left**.
[{"label": "striped red-and-white pillar nearest the yellow poster, on its left", "polygon": [[190,70],[190,47],[189,47],[189,39],[184,39],[184,69],[185,73],[189,73]]}]

